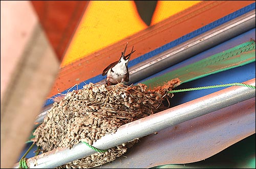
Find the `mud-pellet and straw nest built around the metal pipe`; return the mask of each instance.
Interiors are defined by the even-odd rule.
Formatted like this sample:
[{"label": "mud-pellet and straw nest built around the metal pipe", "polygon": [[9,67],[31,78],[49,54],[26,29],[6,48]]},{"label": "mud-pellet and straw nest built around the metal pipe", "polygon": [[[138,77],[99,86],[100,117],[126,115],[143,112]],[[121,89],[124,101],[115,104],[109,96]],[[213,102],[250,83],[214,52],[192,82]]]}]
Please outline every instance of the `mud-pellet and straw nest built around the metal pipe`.
[{"label": "mud-pellet and straw nest built around the metal pipe", "polygon": [[[169,99],[173,96],[168,91],[179,83],[179,79],[173,79],[153,90],[147,90],[144,84],[85,85],[54,102],[44,122],[33,133],[36,144],[43,152],[72,148],[80,141],[92,145],[105,134],[115,133],[124,124],[167,109]],[[90,168],[102,165],[122,156],[136,142],[138,139],[57,168]]]}]

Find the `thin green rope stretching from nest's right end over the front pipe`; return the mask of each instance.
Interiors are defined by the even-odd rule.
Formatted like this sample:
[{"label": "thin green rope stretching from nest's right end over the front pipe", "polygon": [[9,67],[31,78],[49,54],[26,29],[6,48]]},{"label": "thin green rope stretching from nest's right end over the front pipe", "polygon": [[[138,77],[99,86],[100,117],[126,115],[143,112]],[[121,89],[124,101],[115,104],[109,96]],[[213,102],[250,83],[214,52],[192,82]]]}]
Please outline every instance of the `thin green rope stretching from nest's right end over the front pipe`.
[{"label": "thin green rope stretching from nest's right end over the front pipe", "polygon": [[168,91],[169,93],[177,93],[182,91],[193,91],[193,90],[202,90],[202,89],[210,89],[210,88],[217,88],[217,87],[227,87],[227,86],[245,86],[255,89],[255,86],[244,84],[244,83],[229,83],[229,84],[222,84],[222,85],[215,85],[215,86],[204,86],[204,87],[195,87],[195,88],[188,88],[188,89],[179,89],[179,90],[172,90]]}]

